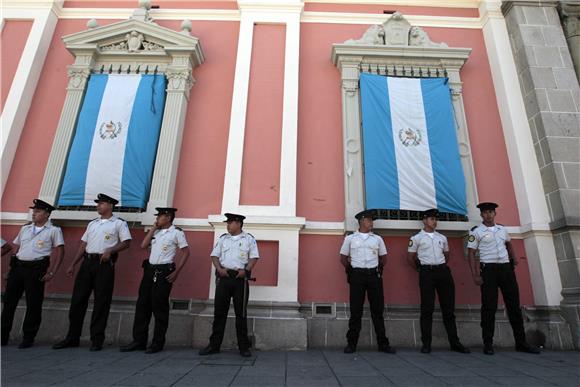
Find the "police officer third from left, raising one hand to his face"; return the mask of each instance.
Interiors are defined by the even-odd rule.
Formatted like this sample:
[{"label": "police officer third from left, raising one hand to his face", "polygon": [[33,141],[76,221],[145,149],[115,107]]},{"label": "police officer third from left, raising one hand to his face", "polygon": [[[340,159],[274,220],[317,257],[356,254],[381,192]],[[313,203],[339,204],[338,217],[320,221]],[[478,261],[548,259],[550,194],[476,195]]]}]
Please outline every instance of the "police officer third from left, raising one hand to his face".
[{"label": "police officer third from left, raising one hand to his face", "polygon": [[[139,286],[133,322],[133,341],[121,347],[121,352],[145,349],[152,314],[155,317],[153,341],[145,353],[163,350],[169,324],[169,294],[189,257],[185,233],[173,225],[177,209],[170,207],[155,209],[157,221],[141,243],[143,249],[151,246],[151,254],[148,260],[143,261],[143,279]],[[175,257],[178,257],[177,266]]]}]

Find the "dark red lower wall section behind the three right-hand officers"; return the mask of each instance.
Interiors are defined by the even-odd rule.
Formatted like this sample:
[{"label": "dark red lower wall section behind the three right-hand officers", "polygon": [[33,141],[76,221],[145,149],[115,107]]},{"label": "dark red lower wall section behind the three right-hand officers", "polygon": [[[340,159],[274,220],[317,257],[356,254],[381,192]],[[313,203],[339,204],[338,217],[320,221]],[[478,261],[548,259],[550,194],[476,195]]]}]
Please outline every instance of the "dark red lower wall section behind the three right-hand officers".
[{"label": "dark red lower wall section behind the three right-hand officers", "polygon": [[[406,262],[407,237],[385,237],[387,265],[383,273],[385,303],[412,305],[420,302],[419,280],[415,270]],[[301,235],[299,255],[300,302],[348,302],[348,284],[340,264],[341,236]],[[521,240],[513,241],[517,257],[525,257]],[[449,266],[455,280],[456,303],[479,305],[480,291],[473,284],[469,266],[463,257],[463,240],[449,238],[451,258]],[[522,305],[533,305],[534,298],[527,260],[520,260],[516,269]],[[323,283],[324,286],[320,286]]]}]

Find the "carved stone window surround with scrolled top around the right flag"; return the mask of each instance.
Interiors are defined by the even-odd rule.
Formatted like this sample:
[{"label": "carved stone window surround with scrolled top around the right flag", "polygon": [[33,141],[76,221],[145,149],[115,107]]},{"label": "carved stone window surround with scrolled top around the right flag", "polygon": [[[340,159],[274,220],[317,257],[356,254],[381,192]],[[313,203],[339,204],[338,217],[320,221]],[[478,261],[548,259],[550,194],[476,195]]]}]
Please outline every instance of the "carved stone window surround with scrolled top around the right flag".
[{"label": "carved stone window surround with scrolled top around the right flag", "polygon": [[[332,62],[341,72],[347,231],[356,230],[354,215],[364,208],[359,94],[361,72],[396,77],[449,78],[451,102],[457,122],[457,140],[467,183],[468,216],[470,219],[478,218],[475,174],[459,75],[470,52],[470,48],[452,48],[445,43],[433,42],[422,28],[412,26],[399,12],[382,24],[370,26],[359,39],[333,45]],[[381,222],[376,223],[378,228]]]}]

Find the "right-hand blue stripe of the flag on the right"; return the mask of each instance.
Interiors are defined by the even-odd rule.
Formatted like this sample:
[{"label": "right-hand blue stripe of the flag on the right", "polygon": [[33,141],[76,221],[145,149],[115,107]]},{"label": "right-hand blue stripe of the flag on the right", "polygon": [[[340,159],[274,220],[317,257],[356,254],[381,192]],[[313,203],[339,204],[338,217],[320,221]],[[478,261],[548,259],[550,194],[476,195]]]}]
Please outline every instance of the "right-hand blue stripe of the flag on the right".
[{"label": "right-hand blue stripe of the flag on the right", "polygon": [[459,156],[451,92],[446,78],[421,80],[437,207],[467,214],[465,176]]}]

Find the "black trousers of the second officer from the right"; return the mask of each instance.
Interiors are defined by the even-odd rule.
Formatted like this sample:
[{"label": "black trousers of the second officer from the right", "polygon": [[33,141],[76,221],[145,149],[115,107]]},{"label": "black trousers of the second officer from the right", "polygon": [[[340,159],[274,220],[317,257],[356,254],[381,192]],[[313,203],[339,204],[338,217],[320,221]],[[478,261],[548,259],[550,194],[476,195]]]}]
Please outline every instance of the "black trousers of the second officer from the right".
[{"label": "black trousers of the second officer from the right", "polygon": [[455,324],[455,283],[449,266],[446,264],[420,266],[419,287],[421,289],[421,341],[423,345],[431,346],[435,293],[439,298],[449,344],[457,344],[459,338]]}]

